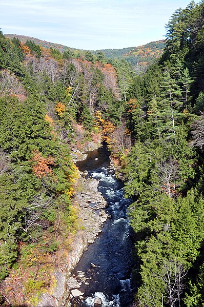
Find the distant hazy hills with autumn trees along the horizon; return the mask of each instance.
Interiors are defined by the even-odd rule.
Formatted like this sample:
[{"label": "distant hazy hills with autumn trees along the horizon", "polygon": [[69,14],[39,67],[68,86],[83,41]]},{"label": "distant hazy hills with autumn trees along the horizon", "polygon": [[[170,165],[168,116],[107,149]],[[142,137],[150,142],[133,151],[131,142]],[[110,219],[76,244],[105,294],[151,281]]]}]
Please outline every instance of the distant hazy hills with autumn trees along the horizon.
[{"label": "distant hazy hills with autumn trees along the horizon", "polygon": [[[6,37],[16,37],[21,40],[22,43],[26,43],[27,40],[32,40],[35,44],[40,45],[44,48],[58,49],[60,52],[70,50],[80,50],[72,47],[68,47],[62,44],[50,43],[46,40],[38,39],[31,36],[18,35],[18,34],[5,34]],[[100,49],[92,50],[94,54],[98,51],[103,51],[107,58],[125,58],[128,62],[135,64],[135,62],[144,63],[144,65],[150,64],[153,60],[161,56],[165,48],[165,40],[157,40],[155,42],[148,43],[146,45],[138,47],[127,47],[123,49]]]}]

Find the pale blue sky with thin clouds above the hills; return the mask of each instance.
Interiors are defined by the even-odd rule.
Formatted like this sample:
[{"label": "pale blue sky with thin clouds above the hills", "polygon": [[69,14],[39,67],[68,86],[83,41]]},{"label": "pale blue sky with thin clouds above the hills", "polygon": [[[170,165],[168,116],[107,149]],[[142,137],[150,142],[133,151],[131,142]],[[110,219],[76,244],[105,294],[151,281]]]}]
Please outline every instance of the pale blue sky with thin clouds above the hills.
[{"label": "pale blue sky with thin clouds above the hills", "polygon": [[165,24],[190,0],[1,0],[3,33],[80,49],[140,46],[164,38]]}]

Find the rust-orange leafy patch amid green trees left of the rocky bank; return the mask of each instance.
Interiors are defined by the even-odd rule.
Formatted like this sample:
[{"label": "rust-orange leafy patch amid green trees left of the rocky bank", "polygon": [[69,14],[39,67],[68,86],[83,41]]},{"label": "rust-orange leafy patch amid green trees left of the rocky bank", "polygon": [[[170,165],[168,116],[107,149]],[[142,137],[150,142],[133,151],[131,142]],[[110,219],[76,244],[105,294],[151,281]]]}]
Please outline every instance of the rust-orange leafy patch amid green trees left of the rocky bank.
[{"label": "rust-orange leafy patch amid green trees left of the rocky bank", "polygon": [[33,150],[32,161],[35,162],[33,165],[33,172],[38,178],[47,176],[48,174],[53,176],[53,172],[50,166],[55,165],[52,157],[44,158],[39,150]]}]

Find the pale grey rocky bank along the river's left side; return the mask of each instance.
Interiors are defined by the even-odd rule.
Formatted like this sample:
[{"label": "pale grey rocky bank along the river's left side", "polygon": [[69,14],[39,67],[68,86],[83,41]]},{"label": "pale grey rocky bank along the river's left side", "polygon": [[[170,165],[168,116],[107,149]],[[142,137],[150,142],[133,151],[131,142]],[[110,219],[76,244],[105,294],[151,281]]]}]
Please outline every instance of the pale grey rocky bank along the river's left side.
[{"label": "pale grey rocky bank along the river's left side", "polygon": [[[97,144],[94,147],[89,146],[87,149],[93,150],[98,147],[101,146]],[[86,157],[87,154],[78,150],[72,152],[74,162],[84,160]],[[69,301],[74,296],[82,298],[81,293],[76,291],[80,287],[80,283],[70,277],[70,272],[75,268],[88,245],[95,241],[104,222],[109,217],[104,211],[107,202],[98,191],[98,180],[86,178],[87,173],[86,171],[79,172],[72,203],[78,214],[79,230],[74,234],[69,234],[70,252],[67,261],[60,270],[53,272],[53,278],[56,280],[55,288],[52,293],[47,292],[42,295],[37,307],[71,306]],[[86,281],[84,280],[84,282]]]}]

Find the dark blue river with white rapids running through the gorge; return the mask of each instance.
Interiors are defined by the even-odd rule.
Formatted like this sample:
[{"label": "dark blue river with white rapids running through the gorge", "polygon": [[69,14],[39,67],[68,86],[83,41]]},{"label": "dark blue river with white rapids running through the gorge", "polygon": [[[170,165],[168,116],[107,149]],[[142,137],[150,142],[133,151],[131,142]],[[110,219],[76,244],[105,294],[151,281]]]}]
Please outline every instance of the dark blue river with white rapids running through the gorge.
[{"label": "dark blue river with white rapids running through the gorge", "polygon": [[[90,152],[86,160],[77,162],[77,167],[99,180],[98,190],[106,198],[107,212],[112,216],[73,271],[73,275],[77,275],[77,271],[86,272],[85,277],[89,278],[89,284],[83,283],[79,289],[86,298],[80,305],[93,306],[94,298],[100,297],[104,307],[127,307],[132,301],[132,242],[126,217],[131,200],[124,197],[123,183],[110,169],[106,148]],[[96,267],[91,267],[91,263]]]}]

